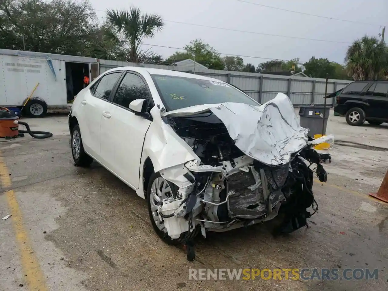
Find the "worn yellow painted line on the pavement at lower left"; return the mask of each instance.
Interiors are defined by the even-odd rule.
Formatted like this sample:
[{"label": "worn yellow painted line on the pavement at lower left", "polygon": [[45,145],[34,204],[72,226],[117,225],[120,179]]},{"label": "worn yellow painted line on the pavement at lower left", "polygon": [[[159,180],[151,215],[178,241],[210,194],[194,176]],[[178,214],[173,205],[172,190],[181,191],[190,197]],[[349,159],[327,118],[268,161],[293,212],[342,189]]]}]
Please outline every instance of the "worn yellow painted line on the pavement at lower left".
[{"label": "worn yellow painted line on the pavement at lower left", "polygon": [[[5,165],[3,158],[0,156],[0,180],[3,187],[9,188],[12,183],[9,177],[7,166]],[[24,270],[24,278],[28,282],[28,289],[30,291],[47,291],[45,277],[42,269],[40,268],[38,259],[36,258],[31,242],[28,237],[28,233],[23,224],[23,215],[17,203],[15,192],[9,190],[5,192],[7,202],[12,215],[12,225],[16,234],[16,241],[19,245],[21,254],[21,263]]]}]

